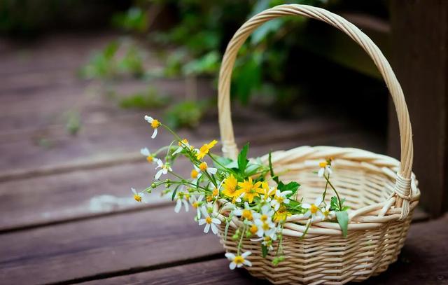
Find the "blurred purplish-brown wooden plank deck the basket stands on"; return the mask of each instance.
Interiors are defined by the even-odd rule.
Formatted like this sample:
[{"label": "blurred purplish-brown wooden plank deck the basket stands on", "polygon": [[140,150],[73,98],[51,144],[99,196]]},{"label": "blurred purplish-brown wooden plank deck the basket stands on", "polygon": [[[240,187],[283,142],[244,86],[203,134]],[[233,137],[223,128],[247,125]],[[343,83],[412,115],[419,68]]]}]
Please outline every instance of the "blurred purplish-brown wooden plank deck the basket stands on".
[{"label": "blurred purplish-brown wooden plank deck the basket stands on", "polygon": [[[166,144],[169,136],[152,141],[144,112],[85,99],[87,83],[76,68],[109,38],[51,36],[27,48],[0,43],[0,283],[260,284],[228,269],[217,237],[204,235],[193,213],[175,214],[157,194],[149,204],[132,200],[130,187],[147,186],[154,174],[139,149]],[[183,96],[181,80],[157,85]],[[83,116],[75,137],[62,116],[73,106]],[[280,121],[254,112],[235,113],[235,120],[238,141],[250,139],[254,156],[307,144],[385,149],[383,138],[344,121]],[[181,133],[193,144],[218,138],[216,117]],[[399,261],[365,284],[448,284],[448,216],[414,223]]]}]

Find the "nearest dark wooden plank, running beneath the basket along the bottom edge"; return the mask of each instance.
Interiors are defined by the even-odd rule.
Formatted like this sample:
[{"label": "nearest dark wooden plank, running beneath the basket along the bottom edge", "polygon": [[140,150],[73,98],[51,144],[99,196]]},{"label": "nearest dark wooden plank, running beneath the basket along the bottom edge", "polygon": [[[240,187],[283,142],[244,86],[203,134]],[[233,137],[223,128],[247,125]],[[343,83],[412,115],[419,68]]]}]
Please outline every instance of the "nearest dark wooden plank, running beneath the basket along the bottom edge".
[{"label": "nearest dark wooden plank, running beneath the basket along the bottom edge", "polygon": [[[405,247],[397,263],[378,277],[363,284],[447,284],[448,248],[441,246],[448,235],[448,216],[438,221],[411,226]],[[428,235],[431,232],[431,235]],[[83,284],[269,284],[251,277],[245,270],[229,270],[224,258],[188,265],[167,267]],[[353,283],[356,284],[356,283]]]}]

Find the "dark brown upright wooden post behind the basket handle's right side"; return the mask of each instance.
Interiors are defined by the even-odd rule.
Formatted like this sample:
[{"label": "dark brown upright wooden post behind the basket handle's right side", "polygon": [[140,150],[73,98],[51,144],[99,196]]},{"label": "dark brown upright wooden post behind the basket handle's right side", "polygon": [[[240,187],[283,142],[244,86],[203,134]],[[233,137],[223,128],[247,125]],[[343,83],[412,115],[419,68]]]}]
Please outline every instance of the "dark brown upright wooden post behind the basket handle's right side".
[{"label": "dark brown upright wooden post behind the basket handle's right side", "polygon": [[[414,139],[421,205],[434,217],[448,210],[448,2],[392,1],[393,68],[405,93]],[[391,102],[388,149],[399,156]]]}]

